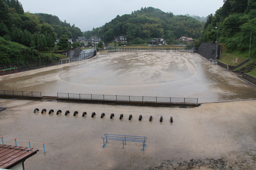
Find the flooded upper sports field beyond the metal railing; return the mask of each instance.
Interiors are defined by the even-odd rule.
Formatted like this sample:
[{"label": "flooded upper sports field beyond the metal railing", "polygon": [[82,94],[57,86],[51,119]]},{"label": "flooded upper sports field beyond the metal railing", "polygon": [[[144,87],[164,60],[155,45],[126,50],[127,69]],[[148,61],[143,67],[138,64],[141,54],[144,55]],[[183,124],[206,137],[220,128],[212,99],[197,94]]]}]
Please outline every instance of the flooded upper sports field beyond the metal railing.
[{"label": "flooded upper sports field beyond the metal railing", "polygon": [[219,102],[256,97],[255,85],[199,54],[99,52],[95,58],[0,79],[1,89],[57,93],[198,98]]}]

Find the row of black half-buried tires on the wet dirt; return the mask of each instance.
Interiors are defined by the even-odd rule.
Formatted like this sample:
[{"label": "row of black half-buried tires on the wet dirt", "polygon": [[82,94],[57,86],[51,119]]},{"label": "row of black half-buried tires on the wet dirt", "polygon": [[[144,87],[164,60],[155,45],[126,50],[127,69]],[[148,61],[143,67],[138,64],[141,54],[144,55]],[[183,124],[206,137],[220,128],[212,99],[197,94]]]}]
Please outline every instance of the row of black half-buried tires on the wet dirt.
[{"label": "row of black half-buried tires on the wet dirt", "polygon": [[[34,109],[34,113],[36,113],[36,112],[39,112],[38,108]],[[41,111],[42,114],[44,114],[46,112],[47,112],[46,109],[42,109],[42,111]],[[48,113],[49,114],[53,114],[54,110],[50,109]],[[62,113],[62,110],[58,110],[56,112],[56,115],[58,115],[60,113]],[[65,116],[67,116],[67,114],[70,114],[70,112],[69,111],[65,111]],[[76,116],[77,114],[78,114],[78,111],[74,111],[73,116]],[[83,112],[82,116],[84,117],[85,115],[87,115],[87,112]],[[96,116],[96,112],[92,112],[92,118],[94,118],[94,116]],[[110,114],[110,119],[112,119],[114,116],[115,116],[115,114],[111,113]],[[103,112],[103,113],[101,113],[101,118],[104,118],[104,117],[105,117],[105,113]],[[124,117],[124,115],[120,114],[119,120],[122,120],[123,117]],[[129,120],[132,120],[132,114],[129,115]],[[142,115],[139,116],[139,121],[141,121],[141,120],[142,120]],[[152,120],[153,120],[153,116],[149,116],[149,121],[152,121]],[[163,116],[160,116],[160,122],[162,122],[163,120],[164,120]],[[171,121],[171,123],[173,123],[173,117],[172,116],[170,118],[170,121]]]}]

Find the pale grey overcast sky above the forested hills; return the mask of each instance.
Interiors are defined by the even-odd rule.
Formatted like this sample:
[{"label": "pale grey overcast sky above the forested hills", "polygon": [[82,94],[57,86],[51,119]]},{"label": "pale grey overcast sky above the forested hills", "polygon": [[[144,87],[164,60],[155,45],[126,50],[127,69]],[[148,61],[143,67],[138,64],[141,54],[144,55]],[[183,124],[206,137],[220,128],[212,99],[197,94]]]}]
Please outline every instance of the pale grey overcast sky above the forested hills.
[{"label": "pale grey overcast sky above the forested hills", "polygon": [[19,0],[24,12],[48,13],[75,24],[81,31],[91,31],[110,22],[117,15],[130,14],[141,7],[158,8],[174,15],[198,15],[207,17],[214,14],[223,0]]}]

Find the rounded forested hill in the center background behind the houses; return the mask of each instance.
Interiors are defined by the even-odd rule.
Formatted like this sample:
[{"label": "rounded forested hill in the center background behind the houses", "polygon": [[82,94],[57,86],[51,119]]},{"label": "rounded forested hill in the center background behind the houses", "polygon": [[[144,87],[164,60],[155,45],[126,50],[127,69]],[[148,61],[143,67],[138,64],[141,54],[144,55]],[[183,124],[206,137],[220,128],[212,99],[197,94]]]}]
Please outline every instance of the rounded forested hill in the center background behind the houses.
[{"label": "rounded forested hill in the center background behind the houses", "polygon": [[205,22],[187,17],[162,12],[148,7],[132,12],[132,14],[117,15],[115,19],[102,27],[86,31],[86,37],[99,36],[105,42],[112,42],[114,37],[126,36],[128,42],[135,38],[165,38],[173,42],[180,36],[200,38]]}]

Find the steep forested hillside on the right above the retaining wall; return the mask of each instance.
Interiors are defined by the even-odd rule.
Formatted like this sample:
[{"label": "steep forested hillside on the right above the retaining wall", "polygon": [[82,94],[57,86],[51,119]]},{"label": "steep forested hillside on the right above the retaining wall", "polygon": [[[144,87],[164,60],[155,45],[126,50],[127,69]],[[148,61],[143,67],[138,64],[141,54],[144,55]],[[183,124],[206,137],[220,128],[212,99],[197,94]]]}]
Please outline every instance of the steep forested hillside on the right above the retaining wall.
[{"label": "steep forested hillside on the right above the retaining wall", "polygon": [[227,52],[248,52],[252,33],[251,54],[256,58],[256,1],[226,0],[214,15],[209,15],[203,30],[203,42],[226,45]]}]

